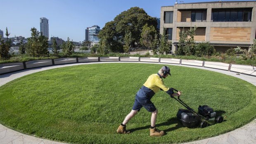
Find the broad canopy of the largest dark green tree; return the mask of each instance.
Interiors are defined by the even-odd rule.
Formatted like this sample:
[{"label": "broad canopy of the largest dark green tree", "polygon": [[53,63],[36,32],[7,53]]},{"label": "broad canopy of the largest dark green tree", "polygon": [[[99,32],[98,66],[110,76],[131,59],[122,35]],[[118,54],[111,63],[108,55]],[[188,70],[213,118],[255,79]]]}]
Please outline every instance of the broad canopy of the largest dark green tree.
[{"label": "broad canopy of the largest dark green tree", "polygon": [[113,21],[107,22],[100,31],[99,38],[109,45],[111,51],[121,51],[126,33],[131,34],[131,45],[134,47],[140,42],[142,28],[145,24],[156,28],[156,18],[150,17],[140,7],[131,7],[117,15]]}]

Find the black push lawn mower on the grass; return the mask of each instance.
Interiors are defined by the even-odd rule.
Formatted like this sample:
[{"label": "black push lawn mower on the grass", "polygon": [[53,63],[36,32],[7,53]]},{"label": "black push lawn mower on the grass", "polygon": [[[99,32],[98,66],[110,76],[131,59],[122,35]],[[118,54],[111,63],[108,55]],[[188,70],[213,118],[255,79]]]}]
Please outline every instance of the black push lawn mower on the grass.
[{"label": "black push lawn mower on the grass", "polygon": [[[175,90],[172,88],[172,90],[178,92],[178,90]],[[177,113],[177,118],[180,120],[180,122],[185,127],[197,127],[200,125],[201,128],[207,127],[208,125],[214,125],[215,123],[222,123],[223,117],[218,116],[216,118],[216,112],[213,111],[213,109],[209,106],[203,105],[198,107],[198,113],[195,112],[192,108],[190,108],[185,102],[183,102],[180,99],[180,96],[178,96],[178,99],[175,97],[172,97],[173,99],[176,99],[180,104],[185,106],[186,109],[179,109]]]}]

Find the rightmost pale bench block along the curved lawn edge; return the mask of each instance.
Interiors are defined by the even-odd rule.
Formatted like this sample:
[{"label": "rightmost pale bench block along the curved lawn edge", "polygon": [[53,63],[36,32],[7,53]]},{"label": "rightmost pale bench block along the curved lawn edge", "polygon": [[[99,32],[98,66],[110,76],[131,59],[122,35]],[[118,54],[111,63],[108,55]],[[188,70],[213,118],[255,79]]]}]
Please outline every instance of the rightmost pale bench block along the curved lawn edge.
[{"label": "rightmost pale bench block along the curved lawn edge", "polygon": [[230,68],[230,71],[234,71],[234,72],[237,72],[237,73],[244,73],[244,74],[248,74],[248,75],[251,75],[251,76],[256,76],[256,67],[253,67],[252,66],[246,66],[246,65],[239,65],[239,64],[232,64],[231,68]]}]

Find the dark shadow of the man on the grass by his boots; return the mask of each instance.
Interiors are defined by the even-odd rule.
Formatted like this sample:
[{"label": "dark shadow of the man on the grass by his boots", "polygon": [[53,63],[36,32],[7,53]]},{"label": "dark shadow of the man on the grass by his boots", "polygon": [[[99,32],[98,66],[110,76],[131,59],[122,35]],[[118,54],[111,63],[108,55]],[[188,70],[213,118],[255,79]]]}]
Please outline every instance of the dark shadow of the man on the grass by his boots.
[{"label": "dark shadow of the man on the grass by his boots", "polygon": [[[178,119],[176,117],[174,118],[170,118],[168,119],[166,122],[164,123],[159,123],[159,124],[156,124],[156,127],[160,127],[160,126],[168,126],[168,125],[173,125],[173,124],[176,124],[175,127],[170,127],[166,130],[164,130],[164,132],[170,132],[172,130],[176,130],[180,127],[183,127],[183,125],[181,125],[178,121]],[[145,130],[145,129],[149,129],[150,128],[150,125],[146,125],[144,127],[137,127],[137,128],[133,128],[133,129],[130,129],[129,131],[130,132],[134,132],[136,130]]]}]

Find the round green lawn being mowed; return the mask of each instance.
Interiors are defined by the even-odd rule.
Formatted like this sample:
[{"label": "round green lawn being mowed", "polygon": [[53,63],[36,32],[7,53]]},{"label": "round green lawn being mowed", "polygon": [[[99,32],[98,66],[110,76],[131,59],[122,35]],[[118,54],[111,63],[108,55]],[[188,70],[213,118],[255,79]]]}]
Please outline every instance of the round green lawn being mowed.
[{"label": "round green lawn being mowed", "polygon": [[77,144],[180,143],[223,134],[256,118],[254,85],[221,73],[170,66],[169,87],[197,110],[211,106],[223,123],[206,128],[183,127],[176,118],[184,108],[165,92],[152,102],[159,110],[156,126],[163,137],[150,137],[151,113],[142,109],[127,124],[129,135],[116,129],[130,112],[137,90],[159,64],[90,64],[33,73],[0,87],[0,123],[19,132]]}]

